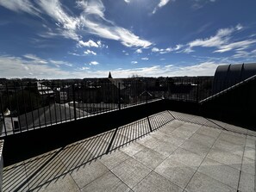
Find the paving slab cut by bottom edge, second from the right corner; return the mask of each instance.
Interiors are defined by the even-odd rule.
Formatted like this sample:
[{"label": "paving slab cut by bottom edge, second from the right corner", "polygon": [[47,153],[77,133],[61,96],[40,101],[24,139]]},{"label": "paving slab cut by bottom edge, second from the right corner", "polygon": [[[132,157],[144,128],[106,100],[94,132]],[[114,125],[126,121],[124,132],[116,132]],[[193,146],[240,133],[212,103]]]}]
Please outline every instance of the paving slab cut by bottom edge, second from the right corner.
[{"label": "paving slab cut by bottom edge, second from the right corner", "polygon": [[185,189],[188,192],[236,192],[236,189],[229,187],[214,178],[197,172]]}]

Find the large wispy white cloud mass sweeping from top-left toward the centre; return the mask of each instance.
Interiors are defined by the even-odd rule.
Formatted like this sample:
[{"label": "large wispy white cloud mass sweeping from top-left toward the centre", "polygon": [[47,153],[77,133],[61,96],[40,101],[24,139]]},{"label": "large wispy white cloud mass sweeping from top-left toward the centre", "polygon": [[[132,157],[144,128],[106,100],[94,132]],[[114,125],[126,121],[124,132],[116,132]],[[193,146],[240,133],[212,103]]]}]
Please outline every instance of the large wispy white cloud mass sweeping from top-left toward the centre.
[{"label": "large wispy white cloud mass sweeping from top-left toward the centre", "polygon": [[[59,0],[38,0],[35,3],[31,3],[29,0],[2,0],[0,5],[7,9],[24,11],[29,14],[37,14],[38,8],[35,5],[38,5],[41,11],[53,18],[58,31],[58,33],[47,31],[47,33],[39,34],[45,38],[60,34],[68,39],[76,40],[80,46],[86,46],[88,41],[84,42],[80,34],[95,34],[105,39],[118,40],[122,45],[128,47],[152,45],[150,41],[141,39],[128,29],[119,27],[115,22],[105,18],[105,7],[101,0],[78,1],[77,7],[82,9],[78,15],[72,14],[71,9],[64,7]],[[96,44],[101,46],[100,41],[97,41]],[[96,46],[96,44],[91,42],[90,46]]]}]

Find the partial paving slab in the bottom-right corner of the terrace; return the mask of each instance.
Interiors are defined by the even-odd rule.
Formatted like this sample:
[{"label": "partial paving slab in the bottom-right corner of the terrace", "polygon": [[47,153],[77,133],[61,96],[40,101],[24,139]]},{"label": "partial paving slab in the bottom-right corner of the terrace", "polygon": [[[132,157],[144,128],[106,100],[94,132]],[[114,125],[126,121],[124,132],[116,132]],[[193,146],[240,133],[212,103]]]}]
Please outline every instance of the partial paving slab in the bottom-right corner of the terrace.
[{"label": "partial paving slab in the bottom-right corner of the terrace", "polygon": [[244,171],[240,173],[239,191],[255,192],[255,176],[247,174]]}]

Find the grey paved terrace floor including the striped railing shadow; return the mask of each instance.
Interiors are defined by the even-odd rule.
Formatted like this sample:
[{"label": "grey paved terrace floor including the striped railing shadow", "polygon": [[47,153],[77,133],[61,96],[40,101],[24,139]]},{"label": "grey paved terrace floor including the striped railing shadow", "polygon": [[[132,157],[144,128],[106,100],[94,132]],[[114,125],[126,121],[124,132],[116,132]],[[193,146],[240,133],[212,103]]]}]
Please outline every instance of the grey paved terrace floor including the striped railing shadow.
[{"label": "grey paved terrace floor including the striped railing shadow", "polygon": [[164,111],[5,167],[3,191],[254,191],[255,136]]}]

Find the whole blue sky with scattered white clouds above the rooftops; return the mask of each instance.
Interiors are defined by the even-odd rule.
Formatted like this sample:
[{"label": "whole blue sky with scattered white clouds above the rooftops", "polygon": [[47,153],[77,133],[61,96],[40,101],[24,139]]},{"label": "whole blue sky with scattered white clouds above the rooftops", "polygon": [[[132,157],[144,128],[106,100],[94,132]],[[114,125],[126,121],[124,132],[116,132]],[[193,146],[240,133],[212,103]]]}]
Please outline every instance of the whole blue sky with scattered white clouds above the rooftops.
[{"label": "whole blue sky with scattered white clouds above the rooftops", "polygon": [[214,75],[256,60],[255,0],[1,0],[0,77]]}]

